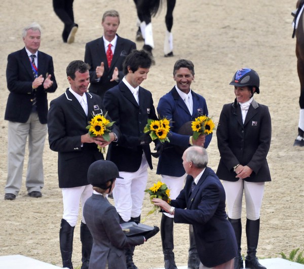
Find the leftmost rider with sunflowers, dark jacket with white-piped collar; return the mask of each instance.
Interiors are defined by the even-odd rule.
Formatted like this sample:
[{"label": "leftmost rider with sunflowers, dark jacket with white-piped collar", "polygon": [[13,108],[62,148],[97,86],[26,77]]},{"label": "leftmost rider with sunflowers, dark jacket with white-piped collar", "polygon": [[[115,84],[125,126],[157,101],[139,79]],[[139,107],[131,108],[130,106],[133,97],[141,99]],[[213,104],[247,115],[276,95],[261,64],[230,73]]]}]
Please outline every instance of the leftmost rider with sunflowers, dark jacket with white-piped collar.
[{"label": "leftmost rider with sunflowers, dark jacket with white-piped collar", "polygon": [[[50,148],[58,152],[58,180],[62,191],[63,216],[59,243],[63,267],[73,268],[72,246],[74,227],[77,223],[80,202],[85,204],[92,195],[92,186],[87,179],[89,166],[103,159],[98,145],[104,147],[119,139],[119,130],[114,124],[109,133],[110,141],[91,137],[86,126],[93,115],[105,114],[101,98],[87,93],[90,82],[89,65],[80,60],[69,63],[66,68],[70,84],[64,94],[52,100],[48,113]],[[110,118],[108,118],[111,121]],[[82,269],[89,267],[92,236],[82,216],[80,226],[82,242]]]}]

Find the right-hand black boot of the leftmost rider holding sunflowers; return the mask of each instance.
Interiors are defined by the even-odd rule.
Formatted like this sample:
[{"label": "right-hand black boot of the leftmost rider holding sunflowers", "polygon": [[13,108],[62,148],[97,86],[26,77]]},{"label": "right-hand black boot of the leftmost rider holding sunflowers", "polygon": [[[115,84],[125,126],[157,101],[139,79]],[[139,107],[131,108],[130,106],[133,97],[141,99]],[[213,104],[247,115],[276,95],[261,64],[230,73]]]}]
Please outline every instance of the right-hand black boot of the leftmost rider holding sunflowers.
[{"label": "right-hand black boot of the leftmost rider holding sunflowers", "polygon": [[89,261],[91,256],[91,250],[93,245],[93,238],[90,233],[90,230],[87,224],[81,222],[80,225],[80,241],[82,244],[82,266],[81,269],[88,269],[89,268]]}]

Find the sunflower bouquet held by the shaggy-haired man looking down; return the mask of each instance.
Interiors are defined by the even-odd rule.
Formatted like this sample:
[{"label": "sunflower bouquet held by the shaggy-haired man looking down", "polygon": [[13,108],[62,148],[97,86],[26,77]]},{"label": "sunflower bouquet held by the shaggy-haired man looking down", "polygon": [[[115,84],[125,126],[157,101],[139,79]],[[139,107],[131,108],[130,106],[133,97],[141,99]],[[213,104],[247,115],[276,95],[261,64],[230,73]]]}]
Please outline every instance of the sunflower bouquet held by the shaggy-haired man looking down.
[{"label": "sunflower bouquet held by the shaggy-haired man looking down", "polygon": [[152,140],[159,139],[162,143],[170,142],[168,133],[170,131],[170,121],[166,118],[162,120],[150,120],[143,129],[144,133],[149,133]]}]

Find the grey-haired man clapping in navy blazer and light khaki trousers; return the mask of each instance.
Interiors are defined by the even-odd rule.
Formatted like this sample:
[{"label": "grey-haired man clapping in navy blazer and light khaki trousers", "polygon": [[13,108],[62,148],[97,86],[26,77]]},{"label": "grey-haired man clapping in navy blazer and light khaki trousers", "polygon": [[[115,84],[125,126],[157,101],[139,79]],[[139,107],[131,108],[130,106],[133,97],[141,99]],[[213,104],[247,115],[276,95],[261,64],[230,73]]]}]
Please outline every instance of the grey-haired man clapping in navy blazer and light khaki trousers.
[{"label": "grey-haired man clapping in navy blazer and light khaki trousers", "polygon": [[26,189],[34,198],[42,196],[44,186],[43,149],[47,135],[47,93],[57,89],[53,59],[39,50],[41,27],[25,27],[25,47],[8,56],[6,70],[10,91],[5,120],[8,123],[8,177],[5,200],[14,200],[22,183],[25,145],[28,137]]}]

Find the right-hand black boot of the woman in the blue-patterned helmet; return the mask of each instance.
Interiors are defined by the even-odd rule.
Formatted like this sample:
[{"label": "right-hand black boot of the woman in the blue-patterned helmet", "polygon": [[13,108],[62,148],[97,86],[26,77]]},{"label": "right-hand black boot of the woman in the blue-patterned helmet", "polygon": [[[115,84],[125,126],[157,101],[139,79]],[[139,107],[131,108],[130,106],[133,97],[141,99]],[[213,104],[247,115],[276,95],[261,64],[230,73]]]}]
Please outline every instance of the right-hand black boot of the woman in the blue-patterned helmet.
[{"label": "right-hand black boot of the woman in the blue-patterned helmet", "polygon": [[247,256],[245,258],[245,267],[250,269],[266,269],[265,266],[258,262],[256,257],[256,248],[259,236],[259,219],[246,222],[246,237],[247,237]]}]

